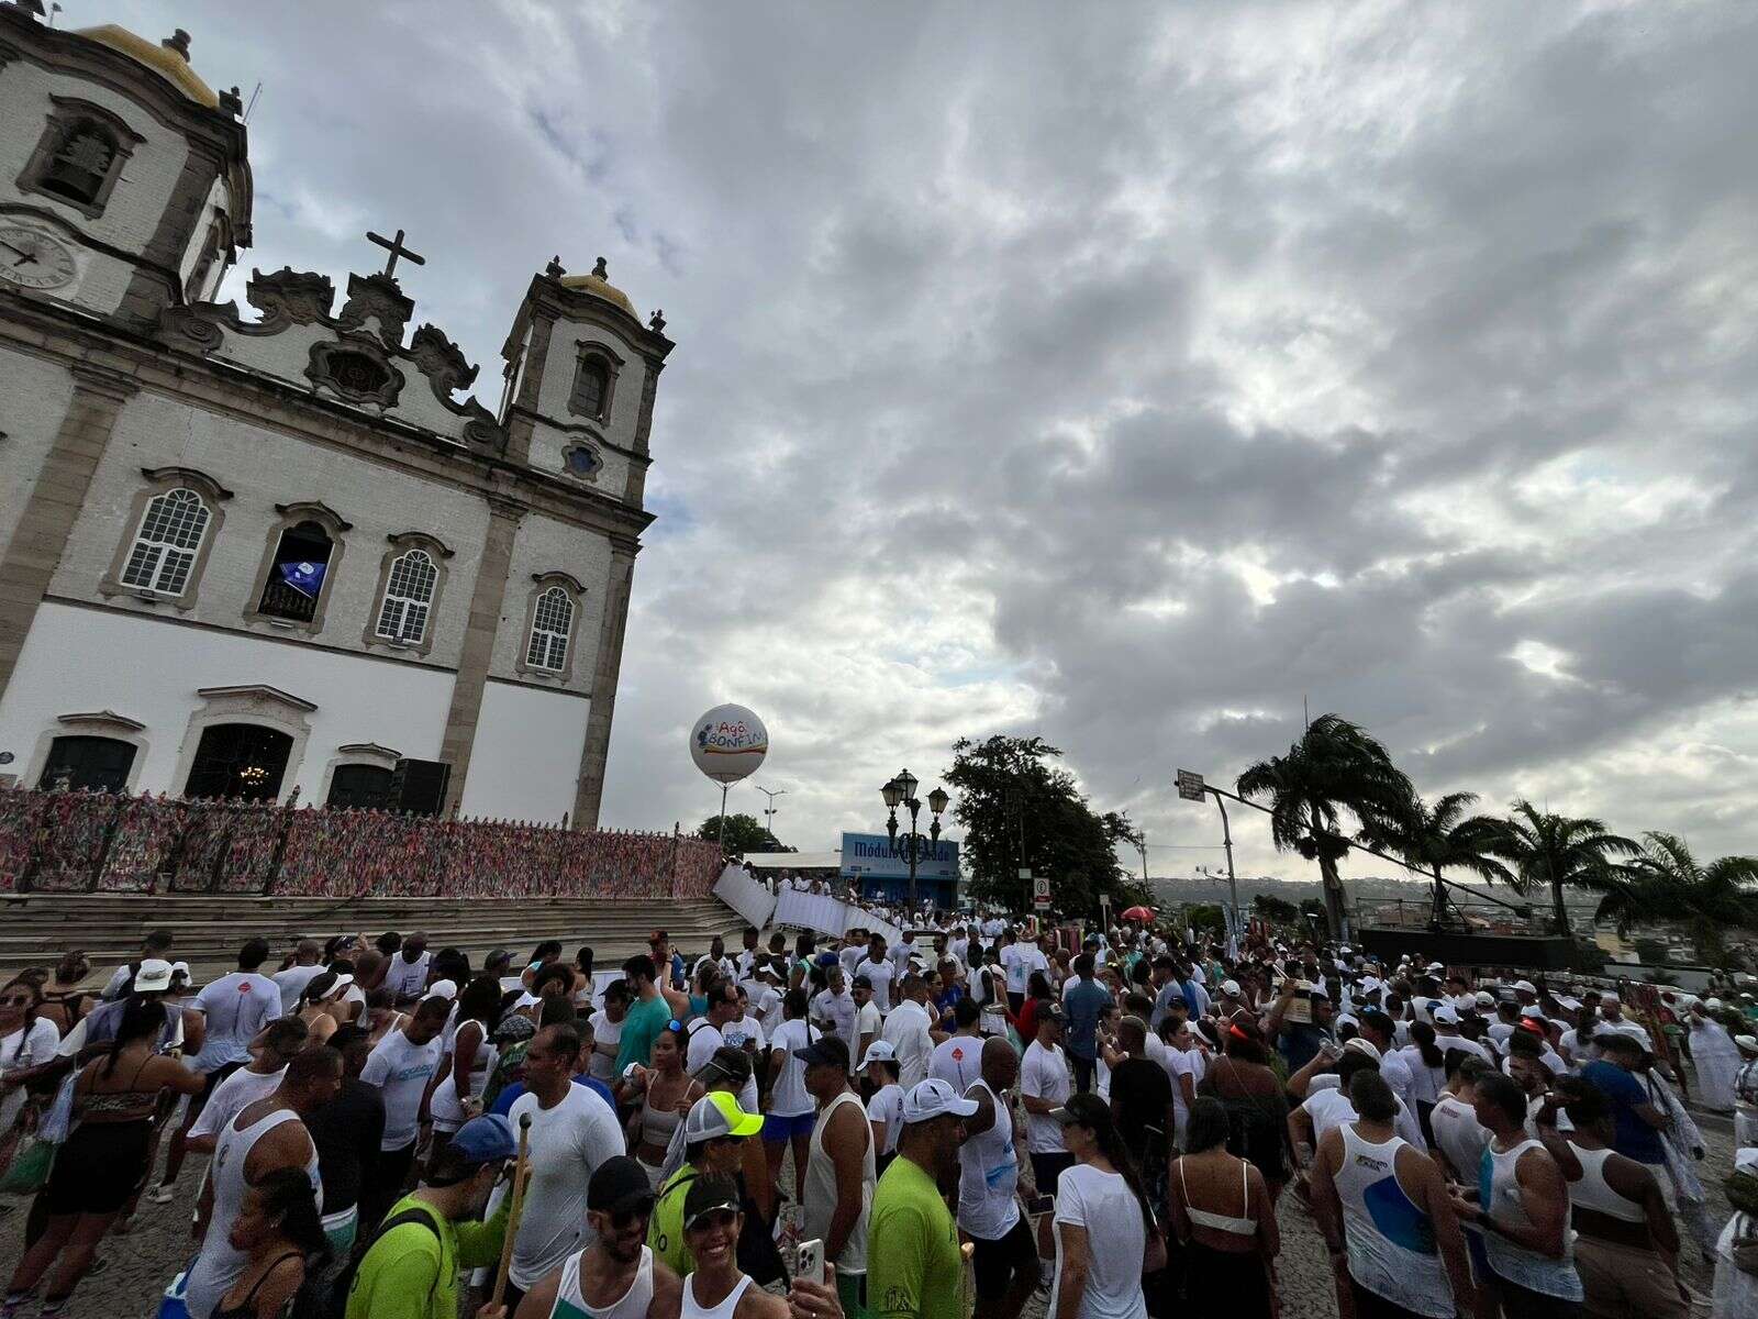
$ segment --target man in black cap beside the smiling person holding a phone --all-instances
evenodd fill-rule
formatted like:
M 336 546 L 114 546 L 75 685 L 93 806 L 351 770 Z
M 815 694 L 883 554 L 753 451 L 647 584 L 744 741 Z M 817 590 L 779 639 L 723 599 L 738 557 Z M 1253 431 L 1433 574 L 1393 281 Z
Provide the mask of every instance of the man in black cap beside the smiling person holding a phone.
M 647 1233 L 654 1194 L 642 1166 L 619 1154 L 585 1187 L 594 1240 L 526 1293 L 515 1319 L 666 1319 L 677 1315 L 679 1275 L 654 1257 Z M 682 1196 L 679 1198 L 682 1235 Z

